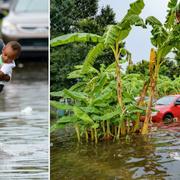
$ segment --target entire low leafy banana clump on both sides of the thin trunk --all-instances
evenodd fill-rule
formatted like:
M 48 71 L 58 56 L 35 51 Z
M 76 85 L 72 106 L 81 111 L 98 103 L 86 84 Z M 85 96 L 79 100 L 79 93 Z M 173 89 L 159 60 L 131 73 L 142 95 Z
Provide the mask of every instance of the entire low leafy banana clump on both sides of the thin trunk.
M 126 120 L 127 133 L 130 133 L 136 114 L 142 113 L 134 97 L 139 94 L 139 85 L 143 81 L 138 74 L 123 76 L 125 108 L 122 110 L 116 98 L 114 68 L 115 63 L 106 68 L 101 65 L 100 70 L 91 67 L 87 74 L 82 74 L 82 66 L 76 66 L 76 70 L 68 77 L 81 78 L 81 81 L 68 90 L 51 93 L 53 97 L 70 98 L 73 102 L 67 105 L 51 101 L 52 107 L 70 112 L 61 117 L 51 129 L 73 124 L 78 141 L 85 136 L 87 142 L 91 139 L 97 143 L 99 139 L 119 139 L 123 135 L 122 124 Z M 129 88 L 131 83 L 133 85 Z

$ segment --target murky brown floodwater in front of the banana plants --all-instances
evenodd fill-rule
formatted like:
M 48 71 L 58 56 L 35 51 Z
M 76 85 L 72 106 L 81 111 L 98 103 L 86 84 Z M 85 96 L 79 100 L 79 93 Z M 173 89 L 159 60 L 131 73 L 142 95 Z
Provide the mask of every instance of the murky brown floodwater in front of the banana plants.
M 180 179 L 180 123 L 97 145 L 53 135 L 51 145 L 51 180 Z

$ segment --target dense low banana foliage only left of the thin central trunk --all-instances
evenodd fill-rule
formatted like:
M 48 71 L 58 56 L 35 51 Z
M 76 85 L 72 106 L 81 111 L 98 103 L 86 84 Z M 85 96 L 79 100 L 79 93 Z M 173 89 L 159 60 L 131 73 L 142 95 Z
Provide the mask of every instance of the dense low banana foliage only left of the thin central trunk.
M 109 121 L 114 116 L 117 116 L 119 109 L 115 106 L 110 106 L 112 101 L 115 101 L 115 89 L 114 87 L 114 74 L 112 70 L 114 65 L 110 65 L 108 68 L 104 68 L 102 65 L 100 71 L 91 67 L 91 70 L 82 75 L 82 66 L 77 66 L 76 70 L 69 74 L 69 78 L 81 78 L 81 82 L 78 82 L 72 86 L 69 90 L 65 89 L 62 92 L 51 93 L 54 97 L 70 98 L 74 102 L 73 105 L 60 104 L 57 101 L 51 101 L 51 106 L 56 109 L 69 110 L 72 113 L 62 117 L 52 127 L 60 127 L 61 124 L 73 124 L 77 134 L 78 141 L 81 140 L 83 134 L 85 134 L 86 141 L 88 137 L 91 137 L 92 141 L 98 142 L 98 130 L 102 128 L 103 137 L 110 136 L 110 124 Z M 112 82 L 109 82 L 113 80 Z M 82 88 L 83 87 L 83 88 Z M 108 131 L 105 130 L 104 122 L 107 121 Z M 90 135 L 89 135 L 89 132 Z M 101 133 L 101 132 L 100 132 Z

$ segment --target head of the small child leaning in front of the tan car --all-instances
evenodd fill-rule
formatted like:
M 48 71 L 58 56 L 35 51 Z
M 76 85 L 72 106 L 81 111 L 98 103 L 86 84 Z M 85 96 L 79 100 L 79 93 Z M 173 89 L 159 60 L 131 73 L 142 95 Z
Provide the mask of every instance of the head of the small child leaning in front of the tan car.
M 12 63 L 21 53 L 21 45 L 17 41 L 10 41 L 2 50 L 2 60 L 4 63 Z

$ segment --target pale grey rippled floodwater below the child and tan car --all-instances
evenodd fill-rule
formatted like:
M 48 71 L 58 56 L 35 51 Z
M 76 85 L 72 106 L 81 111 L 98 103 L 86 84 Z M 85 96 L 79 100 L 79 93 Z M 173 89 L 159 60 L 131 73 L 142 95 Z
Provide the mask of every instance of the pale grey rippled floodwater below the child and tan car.
M 0 179 L 48 179 L 46 63 L 19 64 L 0 94 Z

